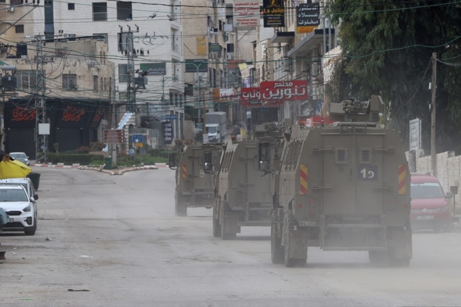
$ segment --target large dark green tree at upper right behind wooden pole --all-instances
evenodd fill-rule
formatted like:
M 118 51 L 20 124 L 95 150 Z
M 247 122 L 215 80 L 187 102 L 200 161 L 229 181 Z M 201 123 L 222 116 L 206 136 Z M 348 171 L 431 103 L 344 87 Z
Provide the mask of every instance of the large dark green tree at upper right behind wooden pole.
M 430 149 L 428 90 L 437 53 L 437 151 L 461 141 L 461 5 L 458 1 L 335 0 L 328 7 L 339 24 L 342 58 L 326 94 L 388 102 L 391 122 L 407 140 L 408 121 L 423 120 L 423 147 Z

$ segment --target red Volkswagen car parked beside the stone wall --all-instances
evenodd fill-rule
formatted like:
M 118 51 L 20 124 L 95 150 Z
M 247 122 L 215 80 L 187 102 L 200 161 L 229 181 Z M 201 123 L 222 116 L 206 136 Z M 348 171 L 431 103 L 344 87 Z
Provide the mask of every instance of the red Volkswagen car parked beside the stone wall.
M 453 219 L 445 193 L 438 179 L 431 174 L 411 174 L 411 228 L 452 231 Z

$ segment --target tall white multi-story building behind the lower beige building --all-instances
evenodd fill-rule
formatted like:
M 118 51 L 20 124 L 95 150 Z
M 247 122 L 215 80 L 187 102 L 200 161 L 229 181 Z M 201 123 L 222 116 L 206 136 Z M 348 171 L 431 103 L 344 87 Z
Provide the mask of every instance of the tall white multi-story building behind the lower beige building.
M 155 4 L 130 1 L 54 2 L 41 5 L 5 0 L 2 14 L 11 25 L 2 33 L 3 49 L 27 42 L 25 36 L 43 34 L 46 39 L 98 37 L 107 43 L 99 67 L 112 67 L 111 102 L 115 105 L 112 127 L 127 113 L 134 127 L 152 128 L 151 140 L 174 144 L 183 137 L 184 78 L 180 2 Z M 17 5 L 16 5 L 17 3 Z M 8 10 L 6 10 L 8 8 Z M 26 15 L 26 17 L 23 17 Z M 3 29 L 7 23 L 2 25 Z M 2 31 L 3 32 L 3 31 Z M 80 92 L 80 88 L 77 89 Z

